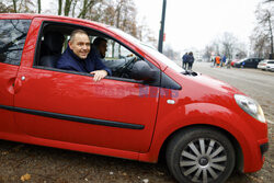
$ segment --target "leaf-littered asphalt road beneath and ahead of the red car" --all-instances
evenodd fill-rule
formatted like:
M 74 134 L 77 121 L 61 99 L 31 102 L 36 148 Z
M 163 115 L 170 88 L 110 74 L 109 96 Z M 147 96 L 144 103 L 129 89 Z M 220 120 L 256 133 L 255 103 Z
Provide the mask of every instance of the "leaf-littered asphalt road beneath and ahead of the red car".
M 193 70 L 240 89 L 262 105 L 270 119 L 271 147 L 263 169 L 256 173 L 233 173 L 228 183 L 273 183 L 274 125 L 271 122 L 274 122 L 274 72 L 210 68 L 209 64 L 203 62 L 195 62 Z M 0 183 L 2 182 L 175 183 L 175 180 L 163 162 L 150 164 L 0 140 Z

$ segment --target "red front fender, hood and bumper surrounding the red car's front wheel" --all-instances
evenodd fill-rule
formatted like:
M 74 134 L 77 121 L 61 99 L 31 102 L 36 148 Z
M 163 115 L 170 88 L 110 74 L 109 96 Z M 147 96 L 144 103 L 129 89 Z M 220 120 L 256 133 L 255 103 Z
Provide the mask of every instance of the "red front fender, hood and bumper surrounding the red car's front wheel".
M 171 76 L 172 72 L 168 70 L 167 72 Z M 162 96 L 160 99 L 151 153 L 159 151 L 164 140 L 175 131 L 174 129 L 180 130 L 182 126 L 208 125 L 227 130 L 238 140 L 244 157 L 244 172 L 254 172 L 261 169 L 263 160 L 256 139 L 267 139 L 267 136 L 265 136 L 267 134 L 267 125 L 258 123 L 256 119 L 241 112 L 242 110 L 238 105 L 235 105 L 233 93 L 243 93 L 224 82 L 205 76 L 195 78 L 174 76 L 174 78 L 181 78 L 182 92 L 174 98 L 174 105 L 167 104 L 165 100 L 169 98 L 164 99 Z M 196 90 L 197 88 L 198 90 Z M 238 114 L 236 115 L 236 113 Z M 254 126 L 251 126 L 251 123 Z M 254 147 L 256 148 L 254 149 Z M 251 150 L 254 153 L 250 153 Z M 140 156 L 140 159 L 146 159 L 147 157 L 150 156 L 144 155 Z M 258 163 L 254 163 L 254 159 Z M 153 160 L 157 160 L 157 158 Z

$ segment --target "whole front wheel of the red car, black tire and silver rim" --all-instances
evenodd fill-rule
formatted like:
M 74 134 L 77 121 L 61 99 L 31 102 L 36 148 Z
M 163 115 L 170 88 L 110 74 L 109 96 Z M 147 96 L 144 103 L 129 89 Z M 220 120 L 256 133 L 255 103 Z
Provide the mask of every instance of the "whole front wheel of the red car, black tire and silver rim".
M 167 164 L 182 183 L 225 182 L 235 168 L 230 140 L 212 128 L 191 128 L 178 133 L 168 144 Z

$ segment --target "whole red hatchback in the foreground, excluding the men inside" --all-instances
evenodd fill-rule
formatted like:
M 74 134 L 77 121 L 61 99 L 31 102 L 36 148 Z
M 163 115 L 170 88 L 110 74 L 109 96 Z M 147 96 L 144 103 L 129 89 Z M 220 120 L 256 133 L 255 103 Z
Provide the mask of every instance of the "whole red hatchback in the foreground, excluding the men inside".
M 56 68 L 77 28 L 107 39 L 112 76 L 94 82 Z M 1 139 L 153 163 L 164 155 L 179 182 L 225 182 L 233 169 L 262 168 L 266 121 L 237 89 L 95 22 L 1 14 L 0 35 Z

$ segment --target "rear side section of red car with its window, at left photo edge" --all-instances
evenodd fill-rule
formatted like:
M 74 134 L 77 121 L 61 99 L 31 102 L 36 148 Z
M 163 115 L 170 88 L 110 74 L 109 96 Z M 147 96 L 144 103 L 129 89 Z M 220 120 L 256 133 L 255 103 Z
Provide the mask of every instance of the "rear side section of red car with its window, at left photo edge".
M 30 20 L 0 20 L 0 134 L 15 133 L 14 82 Z

